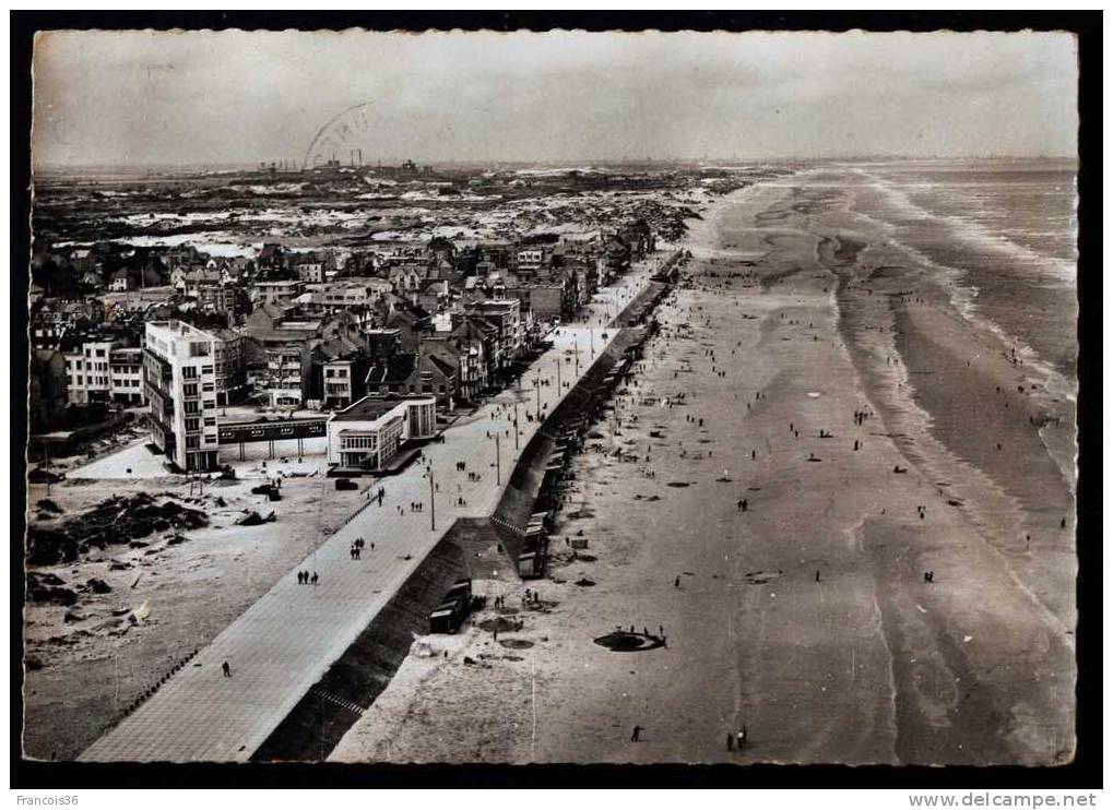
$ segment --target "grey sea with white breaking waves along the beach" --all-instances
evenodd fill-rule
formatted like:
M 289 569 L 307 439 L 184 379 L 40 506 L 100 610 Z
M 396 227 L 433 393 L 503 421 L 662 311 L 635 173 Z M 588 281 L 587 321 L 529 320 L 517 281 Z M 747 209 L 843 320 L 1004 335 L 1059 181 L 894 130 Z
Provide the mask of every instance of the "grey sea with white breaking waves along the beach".
M 1071 160 L 851 165 L 879 194 L 855 211 L 946 268 L 1026 362 L 1076 387 L 1077 165 Z

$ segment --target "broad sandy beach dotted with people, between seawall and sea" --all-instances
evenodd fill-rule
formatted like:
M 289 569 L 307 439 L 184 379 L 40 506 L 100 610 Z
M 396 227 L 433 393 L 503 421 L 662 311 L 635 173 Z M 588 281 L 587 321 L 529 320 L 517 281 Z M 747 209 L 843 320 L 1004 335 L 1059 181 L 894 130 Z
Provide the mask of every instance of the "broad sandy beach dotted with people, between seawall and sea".
M 1070 405 L 847 200 L 801 181 L 709 213 L 573 465 L 550 579 L 475 585 L 522 626 L 423 639 L 333 759 L 1070 758 L 1073 481 L 1028 418 Z M 667 645 L 594 643 L 619 626 Z

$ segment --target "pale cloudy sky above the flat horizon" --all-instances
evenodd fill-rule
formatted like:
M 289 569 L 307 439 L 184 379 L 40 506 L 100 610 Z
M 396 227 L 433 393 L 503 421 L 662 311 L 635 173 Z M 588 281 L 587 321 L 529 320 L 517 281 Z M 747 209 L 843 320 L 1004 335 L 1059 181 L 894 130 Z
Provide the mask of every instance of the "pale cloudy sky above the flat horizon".
M 1076 154 L 1067 33 L 55 31 L 33 71 L 46 167 Z

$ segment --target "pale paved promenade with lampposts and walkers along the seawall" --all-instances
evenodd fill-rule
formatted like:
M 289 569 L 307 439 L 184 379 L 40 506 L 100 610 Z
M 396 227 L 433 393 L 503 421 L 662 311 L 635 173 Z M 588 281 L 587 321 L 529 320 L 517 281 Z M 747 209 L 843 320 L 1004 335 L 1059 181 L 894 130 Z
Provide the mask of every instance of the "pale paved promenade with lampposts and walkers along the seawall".
M 656 258 L 642 263 L 601 290 L 579 323 L 549 336 L 552 348 L 530 366 L 520 388 L 503 391 L 446 431 L 443 444 L 427 445 L 422 460 L 384 480 L 382 506 L 372 503 L 353 517 L 79 759 L 247 761 L 421 565 L 453 521 L 492 514 L 521 450 L 540 425 L 526 419 L 526 413 L 536 412 L 538 392 L 551 412 L 614 338 L 615 330 L 605 324 L 644 287 L 656 263 Z M 549 384 L 535 387 L 538 378 Z M 512 425 L 515 403 L 518 447 Z M 501 436 L 498 482 L 495 442 L 489 437 L 495 432 Z M 456 471 L 459 461 L 466 462 L 466 471 Z M 469 481 L 469 472 L 480 478 Z M 323 481 L 323 498 L 332 483 Z M 457 505 L 460 497 L 464 506 Z M 412 511 L 412 503 L 423 504 L 422 511 Z M 280 524 L 275 531 L 282 532 Z M 352 560 L 349 549 L 357 537 L 366 544 L 362 559 Z M 299 585 L 297 571 L 317 572 L 319 583 Z M 223 672 L 225 662 L 230 676 Z

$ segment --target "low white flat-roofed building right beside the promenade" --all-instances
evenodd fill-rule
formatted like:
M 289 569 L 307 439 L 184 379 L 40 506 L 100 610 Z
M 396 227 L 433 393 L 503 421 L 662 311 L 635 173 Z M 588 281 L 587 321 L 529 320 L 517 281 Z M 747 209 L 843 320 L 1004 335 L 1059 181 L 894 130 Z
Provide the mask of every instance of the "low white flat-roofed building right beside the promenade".
M 436 397 L 364 397 L 328 421 L 328 464 L 384 470 L 403 444 L 436 435 Z

